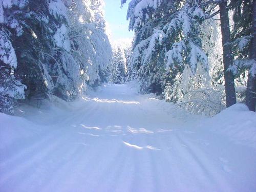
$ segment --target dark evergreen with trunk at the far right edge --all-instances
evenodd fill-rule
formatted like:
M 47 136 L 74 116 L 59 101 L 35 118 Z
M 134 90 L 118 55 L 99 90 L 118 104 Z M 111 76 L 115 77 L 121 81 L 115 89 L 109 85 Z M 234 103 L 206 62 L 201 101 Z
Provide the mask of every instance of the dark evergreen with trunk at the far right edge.
M 233 10 L 232 51 L 236 56 L 235 66 L 230 68 L 235 75 L 248 70 L 246 104 L 255 111 L 256 103 L 256 2 L 253 0 L 231 1 Z

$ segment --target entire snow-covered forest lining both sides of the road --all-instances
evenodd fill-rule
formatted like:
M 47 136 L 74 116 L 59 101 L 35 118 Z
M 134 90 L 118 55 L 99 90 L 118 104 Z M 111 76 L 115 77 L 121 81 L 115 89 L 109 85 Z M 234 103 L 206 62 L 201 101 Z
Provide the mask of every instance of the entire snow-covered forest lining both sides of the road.
M 236 102 L 255 111 L 254 5 L 131 1 L 135 36 L 124 48 L 105 34 L 101 1 L 2 0 L 0 111 L 52 95 L 72 101 L 88 87 L 131 80 L 140 93 L 191 113 L 212 116 Z

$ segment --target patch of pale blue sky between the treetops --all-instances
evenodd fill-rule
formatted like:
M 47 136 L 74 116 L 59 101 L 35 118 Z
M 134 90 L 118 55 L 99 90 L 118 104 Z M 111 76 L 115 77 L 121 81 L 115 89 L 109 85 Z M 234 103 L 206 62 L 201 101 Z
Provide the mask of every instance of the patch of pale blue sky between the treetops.
M 121 0 L 104 0 L 105 20 L 111 32 L 111 40 L 127 39 L 133 37 L 128 30 L 129 21 L 126 20 L 128 3 L 120 9 Z

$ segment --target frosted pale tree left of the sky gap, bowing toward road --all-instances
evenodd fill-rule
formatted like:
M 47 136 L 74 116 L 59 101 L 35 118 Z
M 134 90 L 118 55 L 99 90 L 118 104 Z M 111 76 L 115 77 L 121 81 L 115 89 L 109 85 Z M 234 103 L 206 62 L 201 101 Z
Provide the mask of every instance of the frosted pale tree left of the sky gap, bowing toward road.
M 71 53 L 81 68 L 82 79 L 90 86 L 98 86 L 107 80 L 107 68 L 112 59 L 102 4 L 101 0 L 76 0 L 69 10 Z

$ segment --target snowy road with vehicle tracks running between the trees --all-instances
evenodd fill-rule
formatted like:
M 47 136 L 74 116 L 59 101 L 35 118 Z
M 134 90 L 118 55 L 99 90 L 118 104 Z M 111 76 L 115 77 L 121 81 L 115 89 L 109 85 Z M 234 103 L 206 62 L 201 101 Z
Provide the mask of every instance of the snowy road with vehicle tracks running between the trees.
M 45 112 L 56 123 L 1 151 L 0 191 L 237 190 L 214 139 L 196 130 L 201 117 L 125 85 L 106 85 L 75 105 L 61 116 Z

